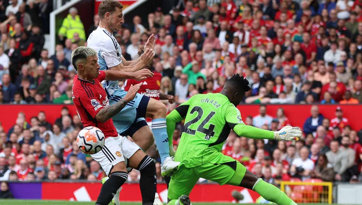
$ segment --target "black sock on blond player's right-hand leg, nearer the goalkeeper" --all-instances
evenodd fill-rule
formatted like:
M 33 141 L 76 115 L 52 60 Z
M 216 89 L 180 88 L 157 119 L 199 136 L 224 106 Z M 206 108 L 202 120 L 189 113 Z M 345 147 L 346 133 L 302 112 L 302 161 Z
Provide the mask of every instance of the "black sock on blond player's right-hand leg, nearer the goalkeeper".
M 142 205 L 153 205 L 156 193 L 156 164 L 147 155 L 139 163 L 140 171 L 139 188 L 141 189 Z

